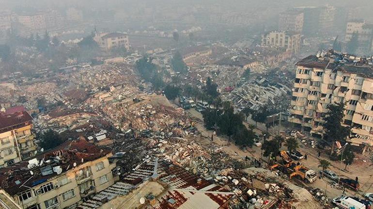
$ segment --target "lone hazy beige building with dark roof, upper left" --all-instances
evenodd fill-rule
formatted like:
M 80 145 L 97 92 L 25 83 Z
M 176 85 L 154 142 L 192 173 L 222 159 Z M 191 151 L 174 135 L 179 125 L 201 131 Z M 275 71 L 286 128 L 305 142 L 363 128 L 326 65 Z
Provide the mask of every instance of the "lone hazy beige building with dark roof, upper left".
M 96 33 L 93 40 L 100 48 L 110 50 L 115 47 L 124 47 L 129 50 L 128 35 L 122 32 Z

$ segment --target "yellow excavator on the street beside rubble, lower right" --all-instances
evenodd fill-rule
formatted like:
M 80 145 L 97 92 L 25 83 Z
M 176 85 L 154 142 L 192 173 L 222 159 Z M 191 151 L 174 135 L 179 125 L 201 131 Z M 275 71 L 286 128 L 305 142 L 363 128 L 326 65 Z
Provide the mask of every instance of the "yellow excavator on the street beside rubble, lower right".
M 300 177 L 305 182 L 310 183 L 317 179 L 316 171 L 307 168 L 302 164 L 296 164 L 294 161 L 292 161 L 286 151 L 280 151 L 280 155 L 282 157 L 282 161 L 273 164 L 270 168 L 271 170 L 276 168 L 282 173 L 288 175 L 290 178 Z

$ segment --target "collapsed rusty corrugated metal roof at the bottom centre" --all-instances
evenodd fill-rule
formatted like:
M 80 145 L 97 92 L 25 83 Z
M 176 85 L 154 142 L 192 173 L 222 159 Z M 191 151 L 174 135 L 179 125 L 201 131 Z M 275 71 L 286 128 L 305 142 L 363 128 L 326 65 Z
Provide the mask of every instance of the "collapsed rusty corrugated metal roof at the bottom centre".
M 130 208 L 133 202 L 128 200 L 127 195 L 147 193 L 149 188 L 146 185 L 153 181 L 167 186 L 162 188 L 161 193 L 154 193 L 154 203 L 144 205 L 148 209 L 218 209 L 233 196 L 233 193 L 227 189 L 198 177 L 171 162 L 158 160 L 157 158 L 149 159 L 138 169 L 124 177 L 122 181 L 124 182 L 113 185 L 115 188 L 109 187 L 94 196 L 88 204 L 83 203 L 78 208 L 99 208 L 102 205 L 99 201 L 100 198 L 110 200 L 114 197 L 112 201 L 105 205 L 112 208 Z M 133 185 L 132 190 L 130 185 Z M 118 195 L 118 191 L 122 193 Z M 156 196 L 157 193 L 159 193 L 158 196 Z M 139 202 L 140 196 L 136 195 L 136 197 L 139 199 L 135 201 Z M 130 205 L 126 205 L 126 203 Z

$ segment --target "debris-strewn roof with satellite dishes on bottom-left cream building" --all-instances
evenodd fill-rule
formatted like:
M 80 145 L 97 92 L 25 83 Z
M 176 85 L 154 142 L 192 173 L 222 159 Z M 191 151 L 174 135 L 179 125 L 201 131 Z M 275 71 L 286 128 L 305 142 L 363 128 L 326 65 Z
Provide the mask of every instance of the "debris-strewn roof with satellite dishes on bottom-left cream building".
M 110 150 L 99 149 L 84 139 L 68 141 L 31 161 L 21 161 L 0 168 L 0 187 L 10 195 L 15 195 L 59 175 L 59 168 L 64 173 L 109 153 Z

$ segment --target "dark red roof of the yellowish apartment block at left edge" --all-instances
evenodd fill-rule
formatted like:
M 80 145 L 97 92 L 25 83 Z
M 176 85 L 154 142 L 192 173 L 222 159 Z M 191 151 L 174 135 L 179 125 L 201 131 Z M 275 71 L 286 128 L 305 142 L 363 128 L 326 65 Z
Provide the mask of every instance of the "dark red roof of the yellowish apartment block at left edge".
M 23 106 L 13 107 L 0 112 L 0 133 L 31 124 L 32 117 Z

